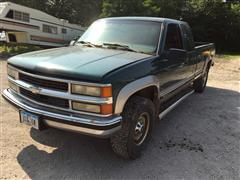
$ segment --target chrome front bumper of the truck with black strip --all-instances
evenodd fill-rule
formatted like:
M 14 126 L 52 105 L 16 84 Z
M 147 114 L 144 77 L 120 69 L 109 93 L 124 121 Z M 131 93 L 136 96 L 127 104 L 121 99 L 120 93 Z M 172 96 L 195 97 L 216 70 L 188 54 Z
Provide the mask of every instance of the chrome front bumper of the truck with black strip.
M 74 131 L 99 138 L 108 138 L 121 129 L 121 116 L 95 117 L 50 109 L 23 99 L 10 89 L 5 89 L 2 92 L 2 96 L 17 109 L 39 115 L 44 126 Z

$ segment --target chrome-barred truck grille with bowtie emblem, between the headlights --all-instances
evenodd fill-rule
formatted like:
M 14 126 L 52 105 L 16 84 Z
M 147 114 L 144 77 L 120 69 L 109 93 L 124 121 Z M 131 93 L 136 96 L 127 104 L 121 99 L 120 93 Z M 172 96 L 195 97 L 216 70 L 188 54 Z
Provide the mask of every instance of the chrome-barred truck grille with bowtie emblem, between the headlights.
M 8 76 L 8 80 L 15 88 L 11 88 L 21 98 L 31 101 L 34 104 L 63 110 L 66 112 L 79 113 L 83 115 L 93 115 L 98 117 L 108 117 L 98 113 L 77 111 L 72 108 L 72 101 L 86 104 L 112 104 L 112 97 L 91 97 L 86 95 L 72 94 L 71 83 L 85 86 L 103 86 L 102 84 L 70 81 L 54 77 L 31 74 L 14 67 L 18 72 L 17 78 Z M 12 87 L 13 87 L 12 86 Z M 105 85 L 104 85 L 105 86 Z

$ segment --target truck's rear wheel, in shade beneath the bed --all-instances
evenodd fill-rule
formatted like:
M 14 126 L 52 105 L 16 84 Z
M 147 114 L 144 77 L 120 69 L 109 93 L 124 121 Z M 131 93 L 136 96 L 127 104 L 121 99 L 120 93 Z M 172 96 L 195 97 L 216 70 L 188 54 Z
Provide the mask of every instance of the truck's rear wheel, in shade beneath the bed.
M 208 66 L 206 68 L 204 74 L 200 78 L 198 78 L 194 81 L 193 88 L 194 88 L 195 92 L 203 93 L 203 91 L 205 90 L 206 85 L 207 85 L 207 80 L 208 80 L 209 69 L 210 69 L 210 67 Z

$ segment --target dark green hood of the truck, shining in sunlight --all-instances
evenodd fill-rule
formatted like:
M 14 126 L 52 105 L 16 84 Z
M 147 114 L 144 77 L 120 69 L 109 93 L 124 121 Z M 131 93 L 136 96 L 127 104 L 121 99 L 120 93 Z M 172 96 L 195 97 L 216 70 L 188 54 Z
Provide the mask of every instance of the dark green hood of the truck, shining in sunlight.
M 150 56 L 129 51 L 72 46 L 18 55 L 10 58 L 8 63 L 34 74 L 100 82 L 109 72 Z

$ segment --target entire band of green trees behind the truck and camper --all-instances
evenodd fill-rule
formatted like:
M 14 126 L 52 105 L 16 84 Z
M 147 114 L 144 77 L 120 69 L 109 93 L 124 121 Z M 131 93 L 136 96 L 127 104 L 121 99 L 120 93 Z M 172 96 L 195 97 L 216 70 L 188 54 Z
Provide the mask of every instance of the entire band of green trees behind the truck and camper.
M 1 0 L 0 0 L 1 1 Z M 10 0 L 88 26 L 100 17 L 154 16 L 187 21 L 196 41 L 240 52 L 240 3 L 231 0 Z

